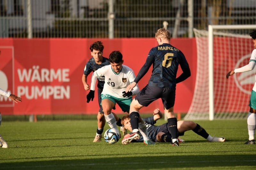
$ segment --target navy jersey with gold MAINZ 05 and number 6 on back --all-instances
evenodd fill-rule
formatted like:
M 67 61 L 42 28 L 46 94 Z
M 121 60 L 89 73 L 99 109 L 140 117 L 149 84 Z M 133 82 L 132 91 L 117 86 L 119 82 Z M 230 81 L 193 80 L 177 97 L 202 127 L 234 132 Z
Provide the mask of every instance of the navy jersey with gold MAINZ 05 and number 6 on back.
M 142 66 L 134 80 L 135 83 L 140 81 L 152 64 L 153 70 L 148 85 L 160 88 L 175 89 L 179 64 L 181 68 L 189 68 L 184 54 L 171 44 L 164 43 L 149 51 L 146 63 Z

